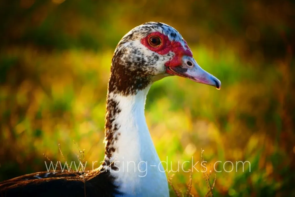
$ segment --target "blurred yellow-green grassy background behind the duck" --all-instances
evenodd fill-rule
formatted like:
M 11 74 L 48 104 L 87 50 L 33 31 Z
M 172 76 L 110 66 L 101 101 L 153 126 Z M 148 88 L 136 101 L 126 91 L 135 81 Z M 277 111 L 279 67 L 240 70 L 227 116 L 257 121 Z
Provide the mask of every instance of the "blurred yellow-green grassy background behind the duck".
M 199 160 L 202 148 L 208 164 L 250 161 L 251 172 L 218 165 L 214 196 L 295 196 L 294 17 L 287 0 L 0 1 L 0 181 L 46 170 L 43 153 L 63 161 L 59 143 L 77 158 L 73 140 L 101 161 L 112 53 L 130 29 L 160 21 L 222 82 L 152 86 L 146 119 L 160 159 Z M 192 193 L 206 192 L 194 172 Z

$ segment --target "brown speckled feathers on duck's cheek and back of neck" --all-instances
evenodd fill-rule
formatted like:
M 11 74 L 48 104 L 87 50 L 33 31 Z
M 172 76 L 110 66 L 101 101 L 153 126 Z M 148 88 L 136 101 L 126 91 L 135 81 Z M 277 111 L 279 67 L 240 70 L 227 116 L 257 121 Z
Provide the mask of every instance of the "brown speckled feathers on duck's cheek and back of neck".
M 131 34 L 132 36 L 133 34 Z M 130 36 L 127 36 L 130 38 Z M 119 102 L 110 95 L 132 96 L 152 83 L 153 67 L 150 65 L 158 61 L 159 56 L 154 54 L 146 58 L 144 54 L 132 44 L 124 46 L 127 42 L 124 38 L 119 43 L 112 58 L 111 73 L 108 84 L 108 95 L 106 98 L 106 118 L 105 118 L 105 161 L 103 165 L 112 165 L 109 159 L 116 151 L 114 142 L 120 136 L 117 133 L 120 125 L 114 123 L 116 116 L 121 112 Z M 131 38 L 130 38 L 131 39 Z

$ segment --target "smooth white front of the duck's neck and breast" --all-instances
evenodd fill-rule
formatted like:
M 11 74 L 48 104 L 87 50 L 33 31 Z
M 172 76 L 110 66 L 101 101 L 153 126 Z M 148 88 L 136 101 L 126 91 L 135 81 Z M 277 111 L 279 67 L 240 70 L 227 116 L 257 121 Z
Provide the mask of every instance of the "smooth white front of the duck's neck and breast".
M 109 93 L 118 102 L 113 124 L 118 129 L 110 162 L 118 167 L 110 170 L 115 184 L 124 196 L 169 196 L 167 178 L 155 150 L 145 121 L 144 106 L 150 86 L 136 95 L 122 96 Z

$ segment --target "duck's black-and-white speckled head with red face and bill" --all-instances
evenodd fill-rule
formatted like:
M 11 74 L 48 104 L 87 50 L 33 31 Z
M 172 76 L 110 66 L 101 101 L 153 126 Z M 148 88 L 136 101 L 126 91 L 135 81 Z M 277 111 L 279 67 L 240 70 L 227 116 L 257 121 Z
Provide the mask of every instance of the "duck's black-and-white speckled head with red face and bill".
M 136 94 L 166 76 L 181 76 L 220 89 L 221 82 L 204 71 L 180 33 L 160 22 L 128 32 L 112 58 L 109 92 Z

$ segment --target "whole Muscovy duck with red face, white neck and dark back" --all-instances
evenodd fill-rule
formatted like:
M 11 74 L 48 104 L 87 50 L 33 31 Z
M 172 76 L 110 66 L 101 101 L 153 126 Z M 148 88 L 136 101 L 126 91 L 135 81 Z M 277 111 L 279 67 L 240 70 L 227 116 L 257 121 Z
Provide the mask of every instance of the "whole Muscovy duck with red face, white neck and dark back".
M 171 26 L 148 22 L 119 42 L 112 57 L 106 98 L 105 156 L 88 173 L 38 172 L 0 183 L 12 196 L 169 196 L 168 182 L 145 121 L 153 82 L 177 75 L 220 88 L 196 63 L 186 41 Z

